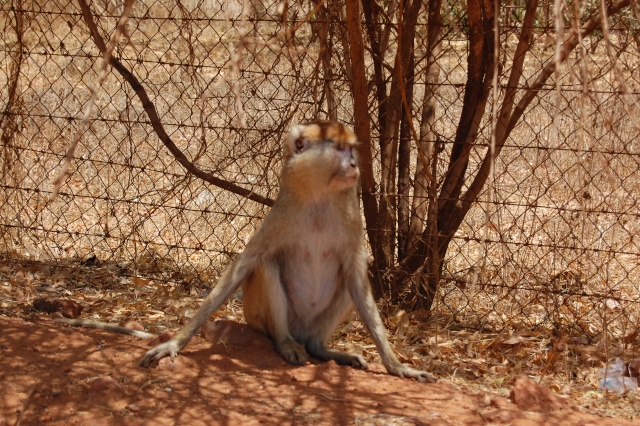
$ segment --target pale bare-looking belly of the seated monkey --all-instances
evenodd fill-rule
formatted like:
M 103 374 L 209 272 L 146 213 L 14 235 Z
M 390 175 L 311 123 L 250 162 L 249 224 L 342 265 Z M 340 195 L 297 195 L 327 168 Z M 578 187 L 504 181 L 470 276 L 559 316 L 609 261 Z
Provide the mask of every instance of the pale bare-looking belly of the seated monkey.
M 291 306 L 299 315 L 321 314 L 341 291 L 340 262 L 332 244 L 300 244 L 283 270 Z

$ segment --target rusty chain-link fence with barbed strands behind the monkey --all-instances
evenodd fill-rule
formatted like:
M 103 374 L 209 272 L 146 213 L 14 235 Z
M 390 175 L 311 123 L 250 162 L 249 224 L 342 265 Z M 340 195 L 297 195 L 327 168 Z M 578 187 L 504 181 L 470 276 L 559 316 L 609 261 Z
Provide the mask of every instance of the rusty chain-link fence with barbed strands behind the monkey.
M 119 65 L 98 89 L 90 126 L 51 201 L 98 79 L 100 39 L 109 41 L 122 12 L 117 2 L 91 2 L 92 33 L 79 4 L 16 0 L 0 12 L 0 251 L 9 259 L 77 268 L 99 259 L 152 279 L 212 282 L 268 211 L 256 196 L 277 193 L 280 145 L 291 124 L 353 124 L 344 5 L 136 1 L 115 47 Z M 469 53 L 464 16 L 455 2 L 446 10 L 433 90 L 445 152 L 460 119 Z M 498 69 L 513 61 L 521 19 L 521 8 L 505 10 Z M 536 23 L 525 79 L 554 55 L 548 19 Z M 490 329 L 637 333 L 640 43 L 637 18 L 630 12 L 627 19 L 635 27 L 612 25 L 582 40 L 538 90 L 450 244 L 434 311 Z M 415 105 L 431 84 L 421 20 Z M 389 37 L 393 46 L 393 31 Z M 366 61 L 373 73 L 375 61 Z M 507 83 L 498 73 L 498 86 Z M 486 151 L 490 140 L 487 120 L 478 146 Z M 374 150 L 374 169 L 378 156 Z M 218 181 L 186 171 L 185 161 Z

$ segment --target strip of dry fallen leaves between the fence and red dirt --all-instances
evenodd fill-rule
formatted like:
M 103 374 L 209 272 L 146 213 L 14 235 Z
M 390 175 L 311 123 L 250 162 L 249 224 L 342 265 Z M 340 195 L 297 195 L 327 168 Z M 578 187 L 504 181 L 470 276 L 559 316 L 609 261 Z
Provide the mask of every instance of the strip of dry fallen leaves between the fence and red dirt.
M 0 313 L 30 316 L 34 311 L 59 311 L 64 316 L 71 315 L 69 318 L 81 316 L 110 323 L 135 321 L 140 323 L 137 328 L 156 334 L 176 331 L 193 315 L 208 288 L 196 274 L 173 271 L 156 279 L 157 274 L 152 272 L 162 271 L 154 268 L 166 265 L 152 256 L 147 260 L 143 268 L 136 270 L 97 261 L 70 267 L 0 262 Z M 207 280 L 214 282 L 215 277 Z M 577 308 L 583 309 L 576 305 Z M 532 305 L 531 309 L 533 312 L 536 307 Z M 610 303 L 606 309 L 614 312 L 616 306 Z M 536 312 L 545 314 L 542 307 Z M 232 299 L 215 316 L 241 322 L 242 304 Z M 488 315 L 487 320 L 490 318 Z M 518 388 L 522 380 L 519 377 L 527 376 L 593 413 L 638 416 L 640 404 L 636 395 L 596 391 L 597 372 L 607 356 L 633 360 L 629 363 L 630 374 L 640 374 L 637 354 L 629 349 L 637 342 L 637 331 L 630 330 L 627 341 L 615 343 L 552 335 L 518 328 L 515 323 L 501 333 L 473 330 L 437 312 L 398 311 L 387 315 L 385 321 L 399 359 L 440 378 L 506 396 L 512 388 Z M 336 331 L 332 345 L 359 353 L 369 362 L 379 360 L 375 344 L 355 314 Z M 520 390 L 514 392 L 522 394 Z

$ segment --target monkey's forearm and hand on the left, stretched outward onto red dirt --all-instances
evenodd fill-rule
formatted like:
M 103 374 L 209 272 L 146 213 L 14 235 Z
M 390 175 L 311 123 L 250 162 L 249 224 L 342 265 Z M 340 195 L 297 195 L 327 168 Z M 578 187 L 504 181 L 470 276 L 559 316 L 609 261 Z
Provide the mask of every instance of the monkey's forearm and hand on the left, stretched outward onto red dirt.
M 248 268 L 244 262 L 244 253 L 240 254 L 236 261 L 227 267 L 218 284 L 202 302 L 195 315 L 185 324 L 180 331 L 169 341 L 149 350 L 140 360 L 142 367 L 148 368 L 158 365 L 165 356 L 174 359 L 178 352 L 186 346 L 194 334 L 198 332 L 211 314 L 220 307 L 240 287 L 240 284 L 252 273 L 253 268 Z

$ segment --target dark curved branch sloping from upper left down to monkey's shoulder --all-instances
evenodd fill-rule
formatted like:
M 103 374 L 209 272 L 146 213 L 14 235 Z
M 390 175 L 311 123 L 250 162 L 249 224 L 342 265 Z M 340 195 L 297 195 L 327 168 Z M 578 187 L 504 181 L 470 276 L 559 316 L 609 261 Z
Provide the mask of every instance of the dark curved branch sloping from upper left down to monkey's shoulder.
M 106 46 L 102 36 L 98 32 L 98 28 L 93 20 L 93 15 L 91 14 L 91 9 L 85 2 L 85 0 L 78 0 L 80 8 L 82 9 L 82 15 L 85 23 L 89 27 L 89 31 L 91 33 L 91 38 L 93 39 L 96 46 L 100 52 L 106 52 Z M 151 127 L 155 131 L 158 138 L 162 141 L 162 143 L 169 149 L 171 154 L 175 157 L 175 159 L 184 167 L 189 173 L 192 173 L 194 176 L 209 182 L 212 185 L 217 186 L 218 188 L 224 189 L 225 191 L 232 192 L 234 194 L 238 194 L 245 198 L 248 198 L 252 201 L 255 201 L 260 204 L 264 204 L 267 206 L 272 206 L 274 200 L 263 197 L 262 195 L 255 194 L 253 191 L 238 186 L 234 183 L 221 179 L 219 177 L 213 176 L 211 173 L 205 172 L 204 170 L 198 168 L 195 164 L 189 161 L 186 155 L 176 146 L 171 137 L 164 130 L 164 126 L 160 121 L 160 117 L 158 116 L 158 111 L 155 106 L 149 99 L 147 95 L 147 91 L 142 86 L 140 81 L 136 78 L 135 75 L 131 71 L 129 71 L 117 58 L 109 56 L 108 64 L 110 64 L 120 75 L 129 83 L 131 88 L 136 93 L 136 96 L 142 103 L 142 107 L 144 108 L 147 116 L 149 117 L 149 121 L 151 122 Z M 66 173 L 66 172 L 65 172 Z

